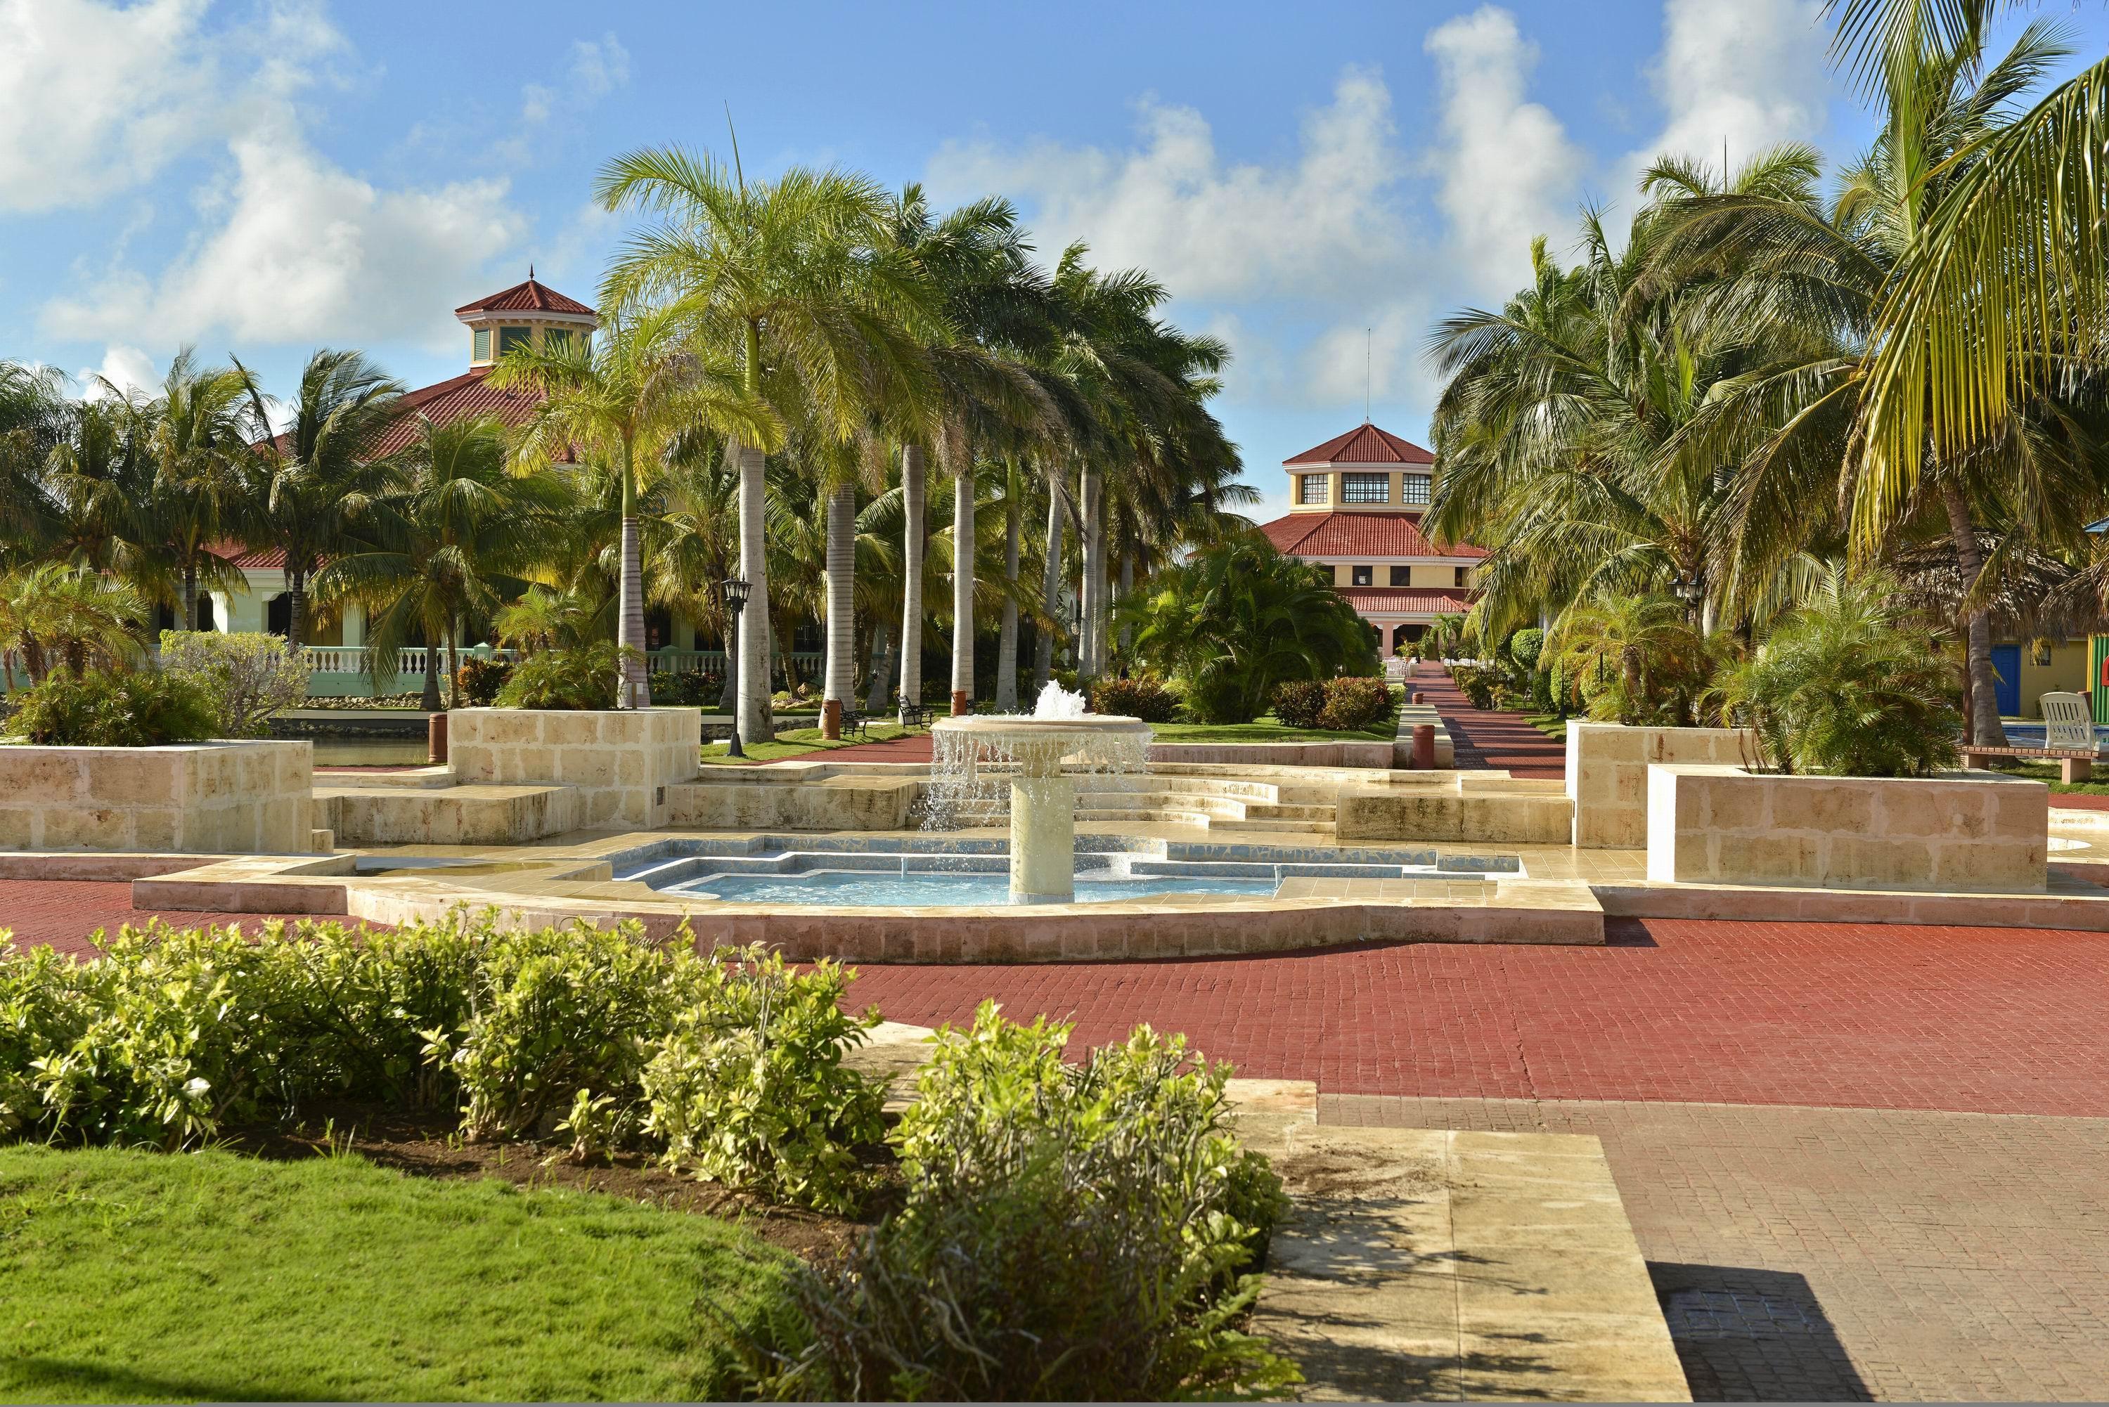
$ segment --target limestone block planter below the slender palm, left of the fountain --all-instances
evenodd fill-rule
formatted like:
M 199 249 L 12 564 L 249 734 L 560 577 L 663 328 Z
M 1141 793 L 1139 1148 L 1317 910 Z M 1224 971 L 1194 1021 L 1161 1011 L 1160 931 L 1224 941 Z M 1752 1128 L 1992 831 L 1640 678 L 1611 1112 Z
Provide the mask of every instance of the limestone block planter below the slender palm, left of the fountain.
M 702 709 L 453 709 L 447 764 L 462 785 L 576 789 L 572 825 L 654 829 L 666 789 L 702 772 Z

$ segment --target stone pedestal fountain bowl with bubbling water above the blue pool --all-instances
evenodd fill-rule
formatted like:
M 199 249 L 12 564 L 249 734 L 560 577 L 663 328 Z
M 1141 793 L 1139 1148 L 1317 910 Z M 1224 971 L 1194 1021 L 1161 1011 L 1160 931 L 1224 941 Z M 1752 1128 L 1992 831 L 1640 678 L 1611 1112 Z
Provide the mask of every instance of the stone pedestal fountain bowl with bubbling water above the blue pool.
M 1147 768 L 1149 724 L 1086 713 L 1082 694 L 1050 681 L 1031 715 L 939 719 L 930 728 L 930 747 L 936 825 L 947 825 L 962 799 L 989 795 L 993 785 L 1008 780 L 1010 903 L 1069 903 L 1076 899 L 1076 780 L 1065 768 Z

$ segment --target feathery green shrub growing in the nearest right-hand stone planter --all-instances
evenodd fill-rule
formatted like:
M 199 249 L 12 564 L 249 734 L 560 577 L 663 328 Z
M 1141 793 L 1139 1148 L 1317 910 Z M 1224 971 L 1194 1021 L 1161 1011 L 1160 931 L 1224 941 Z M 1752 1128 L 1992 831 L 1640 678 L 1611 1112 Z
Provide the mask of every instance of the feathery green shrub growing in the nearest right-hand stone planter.
M 1723 688 L 1759 764 L 1835 776 L 1923 776 L 1955 764 L 1955 667 L 1923 629 L 1898 624 L 1896 582 L 1833 567 Z

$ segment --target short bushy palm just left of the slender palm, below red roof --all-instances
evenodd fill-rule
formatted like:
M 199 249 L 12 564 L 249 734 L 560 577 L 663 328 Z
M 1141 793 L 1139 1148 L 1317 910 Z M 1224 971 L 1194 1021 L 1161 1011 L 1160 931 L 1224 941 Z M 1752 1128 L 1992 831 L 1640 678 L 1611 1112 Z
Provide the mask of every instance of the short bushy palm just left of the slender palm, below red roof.
M 572 494 L 548 468 L 508 473 L 506 460 L 506 432 L 494 418 L 437 426 L 420 416 L 396 460 L 401 487 L 365 506 L 363 542 L 318 574 L 325 601 L 367 608 L 375 694 L 392 681 L 396 652 L 424 641 L 424 707 L 439 711 L 439 648 L 453 679 L 464 627 L 527 591 L 546 525 Z

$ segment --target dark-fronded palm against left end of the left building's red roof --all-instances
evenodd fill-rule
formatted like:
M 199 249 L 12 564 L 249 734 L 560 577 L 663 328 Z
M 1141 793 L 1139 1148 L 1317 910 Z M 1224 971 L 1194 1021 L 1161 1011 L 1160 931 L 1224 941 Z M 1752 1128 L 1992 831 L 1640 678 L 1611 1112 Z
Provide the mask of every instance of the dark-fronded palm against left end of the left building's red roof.
M 291 595 L 287 650 L 299 652 L 308 629 L 308 580 L 352 544 L 348 525 L 394 485 L 394 468 L 375 456 L 382 435 L 401 413 L 403 386 L 365 352 L 323 348 L 299 373 L 291 422 L 270 432 L 270 409 L 257 380 L 243 367 L 251 432 L 249 510 L 243 536 L 251 546 L 285 555 Z

